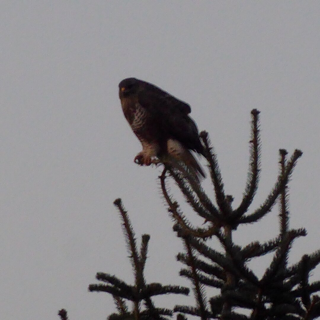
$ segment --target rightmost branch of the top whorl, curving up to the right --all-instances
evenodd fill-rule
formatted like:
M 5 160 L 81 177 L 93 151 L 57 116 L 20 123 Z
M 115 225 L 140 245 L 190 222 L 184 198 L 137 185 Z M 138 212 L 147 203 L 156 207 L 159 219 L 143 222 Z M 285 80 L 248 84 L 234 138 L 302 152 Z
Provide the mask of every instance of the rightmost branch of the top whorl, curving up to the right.
M 255 210 L 252 214 L 241 217 L 239 219 L 239 223 L 252 223 L 254 221 L 258 221 L 268 212 L 270 212 L 272 206 L 276 202 L 277 197 L 279 196 L 283 188 L 287 185 L 288 180 L 292 174 L 292 170 L 300 156 L 302 156 L 302 152 L 300 150 L 295 150 L 290 160 L 286 164 L 284 175 L 279 175 L 274 188 L 268 195 L 265 202 L 260 206 L 260 208 Z

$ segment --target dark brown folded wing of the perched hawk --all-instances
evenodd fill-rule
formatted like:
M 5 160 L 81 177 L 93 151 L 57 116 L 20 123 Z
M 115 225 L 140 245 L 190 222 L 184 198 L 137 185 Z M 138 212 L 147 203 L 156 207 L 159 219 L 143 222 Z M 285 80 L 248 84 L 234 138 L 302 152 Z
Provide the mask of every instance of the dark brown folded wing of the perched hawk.
M 188 116 L 191 108 L 187 103 L 148 83 L 139 94 L 139 102 L 159 123 L 164 135 L 180 141 L 188 149 L 203 153 L 197 126 Z

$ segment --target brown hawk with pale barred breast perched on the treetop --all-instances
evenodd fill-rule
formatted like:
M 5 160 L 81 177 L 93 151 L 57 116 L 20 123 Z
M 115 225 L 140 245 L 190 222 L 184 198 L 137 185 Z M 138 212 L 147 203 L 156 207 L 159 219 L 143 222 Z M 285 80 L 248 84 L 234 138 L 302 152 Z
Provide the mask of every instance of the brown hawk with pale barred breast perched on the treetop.
M 204 155 L 198 129 L 188 116 L 190 106 L 148 82 L 127 78 L 119 83 L 124 116 L 142 144 L 134 161 L 150 165 L 154 157 L 161 162 L 183 162 L 197 177 L 204 172 L 193 150 Z

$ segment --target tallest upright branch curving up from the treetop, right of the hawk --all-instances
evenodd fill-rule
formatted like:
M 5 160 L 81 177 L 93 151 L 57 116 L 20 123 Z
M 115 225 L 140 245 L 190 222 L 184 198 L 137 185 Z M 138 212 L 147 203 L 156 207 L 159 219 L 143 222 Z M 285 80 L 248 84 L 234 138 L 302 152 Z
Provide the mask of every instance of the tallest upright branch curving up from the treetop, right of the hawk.
M 257 109 L 251 111 L 252 122 L 251 130 L 252 136 L 250 141 L 250 164 L 248 179 L 244 189 L 244 196 L 239 207 L 232 213 L 232 217 L 238 219 L 245 212 L 247 212 L 253 197 L 258 188 L 259 174 L 260 174 L 260 135 L 259 135 L 259 113 Z

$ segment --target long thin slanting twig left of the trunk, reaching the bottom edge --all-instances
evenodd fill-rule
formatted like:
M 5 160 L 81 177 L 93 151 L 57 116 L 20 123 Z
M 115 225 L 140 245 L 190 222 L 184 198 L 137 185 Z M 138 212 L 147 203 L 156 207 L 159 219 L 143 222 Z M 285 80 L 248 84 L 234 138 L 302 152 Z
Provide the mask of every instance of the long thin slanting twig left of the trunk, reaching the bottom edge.
M 194 265 L 194 255 L 193 250 L 189 244 L 189 237 L 184 237 L 184 245 L 186 252 L 188 254 L 188 259 L 190 263 L 190 269 L 192 273 L 192 283 L 194 287 L 195 292 L 195 298 L 196 298 L 196 304 L 200 312 L 201 320 L 206 320 L 208 318 L 207 316 L 207 302 L 204 294 L 203 285 L 200 284 L 199 278 L 198 278 L 198 271 Z

